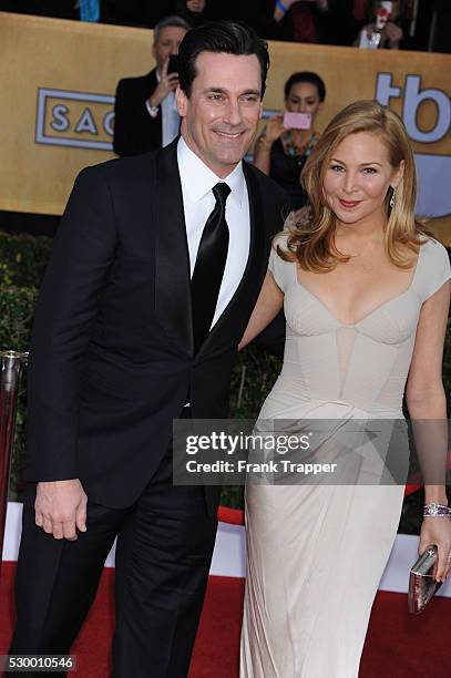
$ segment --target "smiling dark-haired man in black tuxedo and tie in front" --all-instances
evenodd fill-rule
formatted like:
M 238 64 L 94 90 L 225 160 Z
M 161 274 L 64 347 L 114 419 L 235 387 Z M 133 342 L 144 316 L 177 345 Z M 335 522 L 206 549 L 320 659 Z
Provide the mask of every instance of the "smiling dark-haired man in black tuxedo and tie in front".
M 18 623 L 68 653 L 116 546 L 113 676 L 187 675 L 219 487 L 174 486 L 172 422 L 228 413 L 285 193 L 242 157 L 268 53 L 239 23 L 181 45 L 182 138 L 83 170 L 35 312 Z

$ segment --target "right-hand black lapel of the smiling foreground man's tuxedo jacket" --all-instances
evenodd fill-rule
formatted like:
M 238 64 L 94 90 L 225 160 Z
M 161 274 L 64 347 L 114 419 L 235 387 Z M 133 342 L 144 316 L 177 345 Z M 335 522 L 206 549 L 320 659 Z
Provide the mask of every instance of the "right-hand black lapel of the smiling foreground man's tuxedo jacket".
M 265 266 L 265 228 L 264 228 L 264 215 L 262 205 L 262 194 L 255 178 L 255 175 L 249 170 L 246 163 L 243 163 L 244 175 L 246 179 L 248 199 L 249 199 L 249 220 L 250 220 L 250 244 L 249 244 L 249 256 L 247 265 L 243 274 L 243 278 L 232 297 L 230 301 L 224 309 L 224 312 L 218 318 L 217 322 L 213 326 L 208 337 L 199 349 L 202 353 L 208 348 L 215 338 L 221 337 L 223 340 L 225 336 L 234 335 L 235 328 L 235 314 L 242 308 L 242 305 L 246 305 L 246 300 L 253 297 L 254 288 L 258 285 L 260 279 L 262 268 Z M 259 285 L 258 285 L 259 287 Z M 252 311 L 252 308 L 249 309 Z

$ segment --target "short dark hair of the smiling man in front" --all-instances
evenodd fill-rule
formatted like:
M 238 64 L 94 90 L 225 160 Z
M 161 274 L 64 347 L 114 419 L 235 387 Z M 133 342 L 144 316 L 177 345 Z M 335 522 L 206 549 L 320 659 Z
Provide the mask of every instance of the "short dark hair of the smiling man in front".
M 186 33 L 178 49 L 178 82 L 186 96 L 191 96 L 201 52 L 236 56 L 255 54 L 260 64 L 263 97 L 269 69 L 268 44 L 249 25 L 242 21 L 211 21 Z

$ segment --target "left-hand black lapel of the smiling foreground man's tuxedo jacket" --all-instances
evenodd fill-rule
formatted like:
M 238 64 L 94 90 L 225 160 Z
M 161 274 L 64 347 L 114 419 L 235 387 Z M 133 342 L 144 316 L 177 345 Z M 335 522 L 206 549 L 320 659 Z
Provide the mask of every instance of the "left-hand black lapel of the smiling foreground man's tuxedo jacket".
M 177 140 L 157 153 L 154 204 L 156 315 L 166 335 L 192 356 L 189 253 Z

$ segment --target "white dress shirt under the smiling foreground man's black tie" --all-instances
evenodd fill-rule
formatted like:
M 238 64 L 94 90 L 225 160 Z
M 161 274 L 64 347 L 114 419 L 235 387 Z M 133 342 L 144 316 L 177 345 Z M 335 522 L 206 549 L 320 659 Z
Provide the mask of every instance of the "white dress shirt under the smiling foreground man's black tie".
M 249 258 L 249 199 L 243 173 L 243 164 L 238 163 L 235 170 L 222 179 L 216 176 L 216 174 L 214 174 L 214 172 L 191 151 L 191 148 L 188 148 L 183 137 L 180 138 L 177 144 L 177 162 L 182 181 L 186 238 L 188 243 L 192 276 L 202 232 L 216 202 L 212 188 L 216 186 L 218 182 L 225 182 L 230 188 L 230 194 L 226 202 L 225 214 L 229 232 L 228 253 L 216 310 L 213 317 L 213 327 L 234 296 L 243 278 L 247 259 Z

